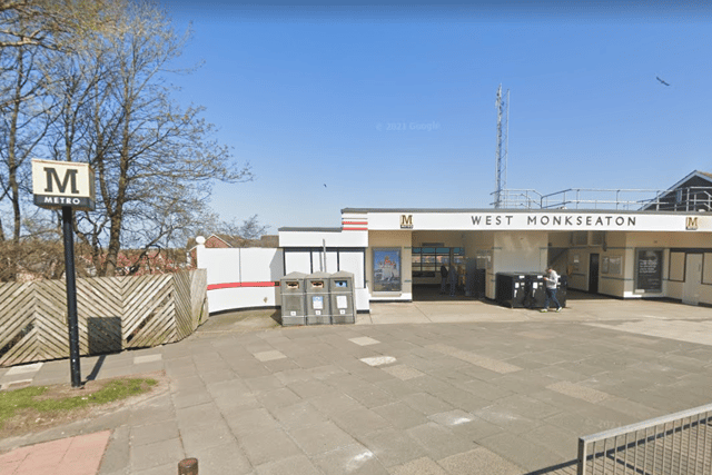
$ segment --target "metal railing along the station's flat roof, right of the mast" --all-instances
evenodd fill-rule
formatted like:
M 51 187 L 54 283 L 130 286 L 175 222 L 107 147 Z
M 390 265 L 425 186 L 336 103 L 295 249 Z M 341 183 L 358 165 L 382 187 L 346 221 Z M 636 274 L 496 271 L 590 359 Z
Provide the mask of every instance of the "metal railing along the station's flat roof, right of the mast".
M 712 192 L 709 187 L 666 190 L 570 188 L 548 195 L 533 189 L 503 189 L 500 190 L 498 199 L 498 202 L 490 205 L 506 209 L 712 211 Z

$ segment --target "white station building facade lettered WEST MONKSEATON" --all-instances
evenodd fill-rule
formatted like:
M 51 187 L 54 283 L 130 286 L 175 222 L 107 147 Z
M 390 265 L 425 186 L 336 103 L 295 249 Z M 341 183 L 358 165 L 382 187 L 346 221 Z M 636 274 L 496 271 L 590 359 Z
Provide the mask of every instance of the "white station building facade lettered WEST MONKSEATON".
M 356 308 L 409 301 L 446 263 L 497 273 L 553 266 L 568 288 L 712 305 L 712 214 L 612 210 L 342 210 L 338 228 L 280 228 L 284 271 L 355 275 Z

